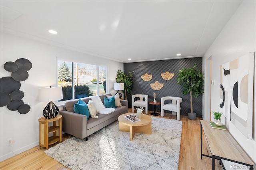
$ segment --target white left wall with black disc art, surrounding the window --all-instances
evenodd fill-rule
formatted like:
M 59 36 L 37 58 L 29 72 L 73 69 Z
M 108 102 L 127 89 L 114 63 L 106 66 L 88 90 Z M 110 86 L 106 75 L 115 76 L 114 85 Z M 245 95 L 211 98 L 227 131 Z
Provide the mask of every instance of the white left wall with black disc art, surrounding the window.
M 57 63 L 56 57 L 66 60 L 97 64 L 107 67 L 107 92 L 115 94 L 114 82 L 118 69 L 123 70 L 123 63 L 86 55 L 76 51 L 47 45 L 16 36 L 1 33 L 1 77 L 11 76 L 4 69 L 4 63 L 26 58 L 31 61 L 32 69 L 29 77 L 21 82 L 20 90 L 24 92 L 24 104 L 30 105 L 30 112 L 21 115 L 18 111 L 10 111 L 6 106 L 0 107 L 0 160 L 14 156 L 11 146 L 6 146 L 6 140 L 13 138 L 13 151 L 21 153 L 39 144 L 39 123 L 42 110 L 47 103 L 38 101 L 38 88 L 56 86 Z

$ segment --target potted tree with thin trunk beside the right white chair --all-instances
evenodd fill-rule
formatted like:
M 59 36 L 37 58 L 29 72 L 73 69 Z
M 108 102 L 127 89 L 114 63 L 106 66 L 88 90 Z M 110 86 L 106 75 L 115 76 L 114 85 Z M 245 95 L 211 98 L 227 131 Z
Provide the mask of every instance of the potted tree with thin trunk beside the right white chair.
M 177 77 L 177 83 L 183 85 L 182 95 L 190 93 L 190 112 L 188 112 L 188 119 L 195 120 L 196 113 L 193 112 L 192 97 L 197 98 L 204 93 L 204 75 L 201 70 L 197 70 L 196 64 L 190 68 L 183 68 Z

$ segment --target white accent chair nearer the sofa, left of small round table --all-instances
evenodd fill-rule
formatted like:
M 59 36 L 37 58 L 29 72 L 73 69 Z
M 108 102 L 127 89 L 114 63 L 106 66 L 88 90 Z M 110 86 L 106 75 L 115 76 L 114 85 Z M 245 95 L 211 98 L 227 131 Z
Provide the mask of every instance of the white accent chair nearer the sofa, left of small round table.
M 136 97 L 140 100 L 135 101 Z M 132 113 L 134 113 L 134 107 L 145 107 L 145 113 L 148 114 L 148 95 L 132 95 Z

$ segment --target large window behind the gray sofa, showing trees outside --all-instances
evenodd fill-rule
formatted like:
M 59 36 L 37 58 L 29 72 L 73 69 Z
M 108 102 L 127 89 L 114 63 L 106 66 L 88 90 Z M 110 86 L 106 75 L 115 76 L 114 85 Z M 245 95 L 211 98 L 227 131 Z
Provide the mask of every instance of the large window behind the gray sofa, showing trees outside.
M 105 94 L 106 67 L 58 60 L 58 86 L 63 91 L 60 101 Z

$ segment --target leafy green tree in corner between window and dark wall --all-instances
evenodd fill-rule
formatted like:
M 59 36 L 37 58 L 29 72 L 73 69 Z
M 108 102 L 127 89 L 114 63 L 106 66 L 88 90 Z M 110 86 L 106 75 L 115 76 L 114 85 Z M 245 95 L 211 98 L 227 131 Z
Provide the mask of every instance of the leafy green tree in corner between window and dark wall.
M 134 71 L 129 71 L 127 75 L 123 71 L 118 70 L 116 75 L 116 83 L 124 83 L 124 93 L 125 99 L 127 100 L 127 93 L 132 94 L 132 73 Z

